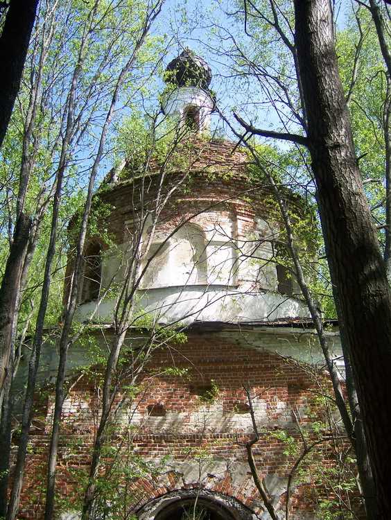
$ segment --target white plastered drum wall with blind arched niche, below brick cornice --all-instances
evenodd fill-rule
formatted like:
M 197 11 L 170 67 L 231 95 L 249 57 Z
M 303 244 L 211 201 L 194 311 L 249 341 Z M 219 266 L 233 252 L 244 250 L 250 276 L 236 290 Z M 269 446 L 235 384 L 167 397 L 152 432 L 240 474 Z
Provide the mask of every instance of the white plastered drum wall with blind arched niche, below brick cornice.
M 149 238 L 146 229 L 145 243 Z M 137 292 L 137 307 L 143 313 L 155 315 L 158 322 L 186 324 L 309 316 L 302 300 L 277 291 L 272 261 L 272 244 L 279 234 L 276 224 L 215 210 L 191 219 L 166 240 L 171 229 L 173 225 L 157 228 L 141 263 L 143 269 L 153 258 Z M 101 293 L 110 284 L 113 288 L 121 285 L 131 254 L 129 243 L 124 241 L 115 251 L 103 254 Z M 97 310 L 96 302 L 80 305 L 78 318 L 88 320 L 94 313 L 94 320 L 112 322 L 113 293 L 107 294 Z

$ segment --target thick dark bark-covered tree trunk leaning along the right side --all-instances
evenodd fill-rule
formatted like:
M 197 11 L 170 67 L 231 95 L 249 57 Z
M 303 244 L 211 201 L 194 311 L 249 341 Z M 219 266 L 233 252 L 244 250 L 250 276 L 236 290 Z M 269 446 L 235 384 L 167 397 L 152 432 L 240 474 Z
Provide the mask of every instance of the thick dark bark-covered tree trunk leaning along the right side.
M 356 162 L 329 0 L 295 0 L 299 59 L 324 242 L 379 505 L 391 518 L 391 294 Z

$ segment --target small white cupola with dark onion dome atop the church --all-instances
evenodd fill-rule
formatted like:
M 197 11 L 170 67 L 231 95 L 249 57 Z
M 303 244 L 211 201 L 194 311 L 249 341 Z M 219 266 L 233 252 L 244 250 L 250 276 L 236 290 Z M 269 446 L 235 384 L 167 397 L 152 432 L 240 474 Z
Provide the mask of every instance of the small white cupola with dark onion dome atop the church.
M 164 80 L 168 89 L 162 102 L 164 114 L 177 119 L 189 130 L 207 130 L 215 105 L 209 89 L 211 78 L 207 62 L 185 49 L 166 68 Z

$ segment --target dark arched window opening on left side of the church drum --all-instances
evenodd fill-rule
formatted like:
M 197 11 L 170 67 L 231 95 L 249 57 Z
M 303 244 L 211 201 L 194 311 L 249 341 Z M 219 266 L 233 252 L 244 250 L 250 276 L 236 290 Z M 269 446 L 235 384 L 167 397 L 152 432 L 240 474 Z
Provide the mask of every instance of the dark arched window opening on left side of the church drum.
M 80 303 L 98 300 L 102 279 L 101 245 L 92 242 L 88 245 L 84 257 L 82 277 L 82 295 Z

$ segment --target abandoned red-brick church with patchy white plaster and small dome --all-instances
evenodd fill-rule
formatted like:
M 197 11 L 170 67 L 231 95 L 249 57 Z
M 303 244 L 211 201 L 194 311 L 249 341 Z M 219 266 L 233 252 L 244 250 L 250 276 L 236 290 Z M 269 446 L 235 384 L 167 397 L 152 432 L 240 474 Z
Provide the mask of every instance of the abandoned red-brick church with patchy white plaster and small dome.
M 89 344 L 107 352 L 126 285 L 135 318 L 124 343 L 128 357 L 116 371 L 124 384 L 107 434 L 111 469 L 102 465 L 107 481 L 126 478 L 101 489 L 98 517 L 270 519 L 248 458 L 257 435 L 251 450 L 272 507 L 283 515 L 289 501 L 290 519 L 315 520 L 314 482 L 327 443 L 314 448 L 315 467 L 304 460 L 306 471 L 293 474 L 293 467 L 300 435 L 311 435 L 311 423 L 320 421 L 313 403 L 324 362 L 295 279 L 275 261 L 281 224 L 270 191 L 249 180 L 243 149 L 207 133 L 215 109 L 208 64 L 186 50 L 167 70 L 162 112 L 175 121 L 180 142 L 175 137 L 174 150 L 171 141 L 163 161 L 150 157 L 148 168 L 144 161 L 141 173 L 130 160 L 114 168 L 96 194 L 110 211 L 104 232 L 91 234 L 85 249 L 77 319 L 88 324 L 88 338 L 69 351 L 58 517 L 78 518 L 80 474 L 87 474 L 100 415 L 98 376 L 85 368 Z M 151 329 L 159 343 L 150 342 Z M 332 324 L 329 333 L 338 358 Z M 137 358 L 141 344 L 148 348 Z M 22 499 L 21 517 L 31 519 L 42 516 L 40 474 L 58 361 L 53 345 L 44 355 L 42 420 L 33 422 Z

